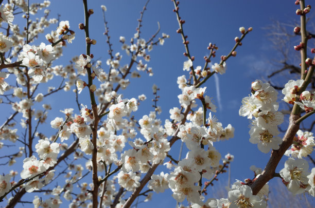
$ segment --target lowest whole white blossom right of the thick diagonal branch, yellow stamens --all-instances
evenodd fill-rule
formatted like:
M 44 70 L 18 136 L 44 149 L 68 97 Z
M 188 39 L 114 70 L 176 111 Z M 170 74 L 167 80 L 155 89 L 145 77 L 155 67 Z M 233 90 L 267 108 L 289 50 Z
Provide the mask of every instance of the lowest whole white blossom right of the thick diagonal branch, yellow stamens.
M 304 159 L 293 160 L 289 158 L 285 167 L 279 172 L 281 177 L 288 182 L 287 188 L 293 194 L 301 194 L 308 184 L 308 163 Z

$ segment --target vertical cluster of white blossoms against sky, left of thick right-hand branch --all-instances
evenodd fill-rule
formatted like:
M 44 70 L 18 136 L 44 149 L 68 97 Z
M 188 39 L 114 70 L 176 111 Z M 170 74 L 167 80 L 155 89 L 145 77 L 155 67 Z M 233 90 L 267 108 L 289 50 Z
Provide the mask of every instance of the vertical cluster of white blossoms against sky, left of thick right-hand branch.
M 250 142 L 258 144 L 258 149 L 268 153 L 278 149 L 282 139 L 278 137 L 277 126 L 283 122 L 283 114 L 278 112 L 276 102 L 278 92 L 269 83 L 256 80 L 252 83 L 252 95 L 242 99 L 239 115 L 251 120 Z

